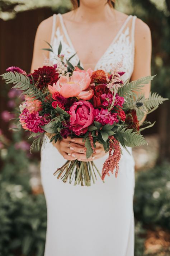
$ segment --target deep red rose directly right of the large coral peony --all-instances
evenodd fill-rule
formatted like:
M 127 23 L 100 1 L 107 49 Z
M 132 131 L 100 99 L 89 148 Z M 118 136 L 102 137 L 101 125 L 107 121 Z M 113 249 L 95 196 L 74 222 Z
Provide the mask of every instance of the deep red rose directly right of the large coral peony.
M 99 85 L 91 85 L 91 89 L 93 89 L 93 97 L 91 100 L 93 101 L 94 108 L 99 108 L 102 106 L 101 102 L 101 95 L 104 93 L 109 93 L 109 89 L 105 84 L 99 84 Z

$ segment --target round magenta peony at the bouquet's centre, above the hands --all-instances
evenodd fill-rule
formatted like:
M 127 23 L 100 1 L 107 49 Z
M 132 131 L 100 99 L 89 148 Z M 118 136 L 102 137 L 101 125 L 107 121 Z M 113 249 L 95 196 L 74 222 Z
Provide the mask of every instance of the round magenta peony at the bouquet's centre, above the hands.
M 94 107 L 89 101 L 75 102 L 68 111 L 70 117 L 69 129 L 76 135 L 84 134 L 94 120 Z

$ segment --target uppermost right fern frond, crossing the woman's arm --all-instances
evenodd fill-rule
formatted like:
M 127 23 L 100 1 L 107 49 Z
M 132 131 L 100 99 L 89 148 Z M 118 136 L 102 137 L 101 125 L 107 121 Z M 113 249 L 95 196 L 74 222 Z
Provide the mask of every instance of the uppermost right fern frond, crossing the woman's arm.
M 145 84 L 150 83 L 154 76 L 145 76 L 136 81 L 126 83 L 118 91 L 121 97 L 128 98 L 129 95 L 134 95 L 133 91 L 141 91 Z

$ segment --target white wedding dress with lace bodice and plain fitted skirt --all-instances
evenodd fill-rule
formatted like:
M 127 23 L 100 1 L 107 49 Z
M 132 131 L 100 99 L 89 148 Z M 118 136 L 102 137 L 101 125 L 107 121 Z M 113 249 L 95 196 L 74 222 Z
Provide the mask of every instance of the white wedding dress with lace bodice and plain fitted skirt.
M 123 57 L 123 80 L 130 78 L 134 65 L 136 16 L 128 16 L 94 70 L 105 69 Z M 69 58 L 76 51 L 61 14 L 53 15 L 51 45 Z M 50 60 L 55 63 L 53 53 Z M 79 61 L 76 55 L 71 63 Z M 122 149 L 118 177 L 110 173 L 103 183 L 98 176 L 91 186 L 70 185 L 53 175 L 66 160 L 47 139 L 41 149 L 41 179 L 47 203 L 45 256 L 133 256 L 134 255 L 134 159 L 132 149 Z M 102 170 L 108 155 L 94 160 Z

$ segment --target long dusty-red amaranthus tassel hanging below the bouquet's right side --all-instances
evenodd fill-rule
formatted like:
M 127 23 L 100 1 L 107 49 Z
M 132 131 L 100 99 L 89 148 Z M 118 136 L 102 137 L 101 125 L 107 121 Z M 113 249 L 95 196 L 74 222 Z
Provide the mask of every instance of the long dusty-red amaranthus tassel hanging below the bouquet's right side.
M 112 150 L 114 150 L 113 154 Z M 109 171 L 113 173 L 114 168 L 116 168 L 115 177 L 117 178 L 120 159 L 121 147 L 119 145 L 119 142 L 113 136 L 109 136 L 109 157 L 103 164 L 103 169 L 101 173 L 102 180 L 104 180 L 106 175 L 110 176 Z

